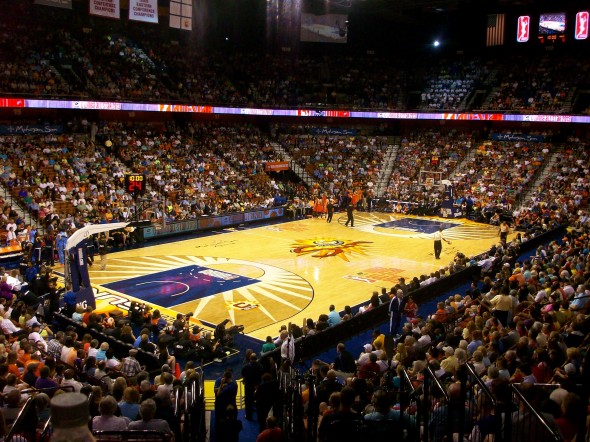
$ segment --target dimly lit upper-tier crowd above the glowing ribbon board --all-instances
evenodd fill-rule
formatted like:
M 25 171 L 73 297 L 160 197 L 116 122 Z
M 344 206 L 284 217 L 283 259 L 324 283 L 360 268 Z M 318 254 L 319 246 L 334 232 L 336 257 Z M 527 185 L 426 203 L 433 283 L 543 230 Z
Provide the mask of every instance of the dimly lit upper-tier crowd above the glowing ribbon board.
M 88 97 L 230 106 L 457 111 L 476 90 L 489 110 L 569 112 L 571 93 L 587 70 L 579 57 L 547 52 L 484 58 L 417 59 L 277 55 L 204 50 L 156 38 L 155 30 L 107 30 L 60 11 L 20 8 L 0 23 L 0 91 L 45 97 Z M 55 26 L 47 23 L 55 22 Z M 261 62 L 261 57 L 263 62 Z M 514 70 L 514 66 L 519 69 Z M 484 99 L 485 102 L 485 99 Z

